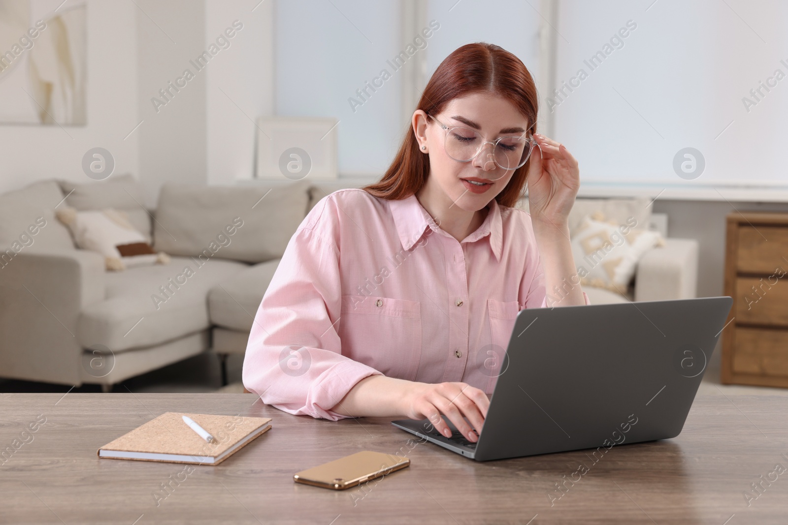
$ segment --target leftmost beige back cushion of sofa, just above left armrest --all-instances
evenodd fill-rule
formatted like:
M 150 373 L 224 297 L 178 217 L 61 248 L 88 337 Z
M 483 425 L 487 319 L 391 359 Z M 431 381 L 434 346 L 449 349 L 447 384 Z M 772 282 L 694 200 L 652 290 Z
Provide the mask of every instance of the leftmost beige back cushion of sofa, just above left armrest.
M 54 216 L 63 200 L 58 183 L 43 180 L 0 195 L 0 257 L 11 250 L 75 250 L 69 229 Z M 35 232 L 35 233 L 34 233 Z M 13 255 L 2 258 L 8 264 Z

